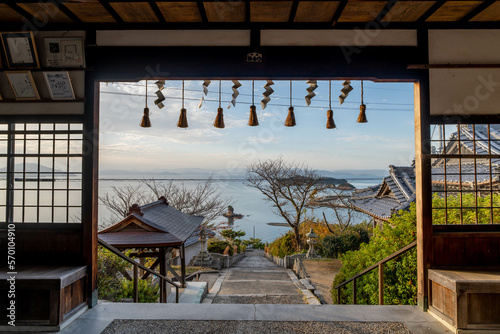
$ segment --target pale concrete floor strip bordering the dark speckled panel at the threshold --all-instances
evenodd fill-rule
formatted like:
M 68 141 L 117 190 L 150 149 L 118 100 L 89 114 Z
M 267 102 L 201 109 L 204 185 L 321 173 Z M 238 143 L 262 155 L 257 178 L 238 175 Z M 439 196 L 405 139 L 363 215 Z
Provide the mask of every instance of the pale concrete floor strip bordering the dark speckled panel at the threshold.
M 100 303 L 59 333 L 98 334 L 114 319 L 401 322 L 413 334 L 450 333 L 414 306 Z

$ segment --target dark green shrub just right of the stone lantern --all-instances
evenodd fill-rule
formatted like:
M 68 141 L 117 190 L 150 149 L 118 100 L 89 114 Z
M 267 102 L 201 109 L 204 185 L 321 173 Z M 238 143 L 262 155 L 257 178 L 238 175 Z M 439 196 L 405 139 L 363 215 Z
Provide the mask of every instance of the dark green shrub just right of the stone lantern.
M 338 258 L 348 251 L 358 250 L 361 244 L 370 241 L 368 224 L 358 224 L 350 227 L 340 235 L 326 236 L 321 240 L 318 252 L 324 257 Z

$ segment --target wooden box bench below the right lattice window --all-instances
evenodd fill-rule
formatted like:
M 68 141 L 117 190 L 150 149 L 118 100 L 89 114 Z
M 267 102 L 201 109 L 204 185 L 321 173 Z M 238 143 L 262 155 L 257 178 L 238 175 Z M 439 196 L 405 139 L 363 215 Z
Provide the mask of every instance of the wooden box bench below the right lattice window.
M 456 332 L 500 331 L 500 271 L 429 269 L 429 312 Z

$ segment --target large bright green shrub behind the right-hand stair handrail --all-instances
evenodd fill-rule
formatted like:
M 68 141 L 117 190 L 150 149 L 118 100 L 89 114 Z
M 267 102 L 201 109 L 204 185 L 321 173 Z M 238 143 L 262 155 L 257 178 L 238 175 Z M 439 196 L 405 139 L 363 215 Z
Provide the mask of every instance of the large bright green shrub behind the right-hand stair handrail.
M 342 268 L 335 276 L 331 296 L 335 303 L 337 292 L 333 287 L 360 273 L 369 266 L 410 244 L 416 239 L 416 209 L 412 203 L 409 211 L 400 211 L 383 228 L 376 228 L 369 243 L 361 244 L 357 251 L 341 255 Z M 384 304 L 416 304 L 417 260 L 413 249 L 384 265 Z M 356 280 L 357 302 L 378 304 L 378 270 Z M 352 303 L 352 283 L 341 290 L 341 302 Z

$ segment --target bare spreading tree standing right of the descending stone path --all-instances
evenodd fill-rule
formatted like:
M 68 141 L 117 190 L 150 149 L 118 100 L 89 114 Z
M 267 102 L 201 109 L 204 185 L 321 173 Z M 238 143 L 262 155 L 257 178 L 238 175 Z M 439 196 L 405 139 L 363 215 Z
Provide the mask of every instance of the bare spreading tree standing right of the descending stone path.
M 247 167 L 245 185 L 266 196 L 275 213 L 293 229 L 299 250 L 299 226 L 310 196 L 324 188 L 322 178 L 304 164 L 287 163 L 282 157 L 259 161 Z

